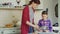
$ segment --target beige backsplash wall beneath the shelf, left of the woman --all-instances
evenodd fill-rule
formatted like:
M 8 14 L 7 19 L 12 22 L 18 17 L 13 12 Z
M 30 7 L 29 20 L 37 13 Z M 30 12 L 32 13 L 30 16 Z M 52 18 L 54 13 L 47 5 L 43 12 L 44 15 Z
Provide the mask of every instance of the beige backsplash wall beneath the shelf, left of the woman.
M 12 23 L 13 17 L 16 17 L 16 20 L 21 21 L 22 11 L 20 10 L 0 10 L 0 27 L 5 24 Z

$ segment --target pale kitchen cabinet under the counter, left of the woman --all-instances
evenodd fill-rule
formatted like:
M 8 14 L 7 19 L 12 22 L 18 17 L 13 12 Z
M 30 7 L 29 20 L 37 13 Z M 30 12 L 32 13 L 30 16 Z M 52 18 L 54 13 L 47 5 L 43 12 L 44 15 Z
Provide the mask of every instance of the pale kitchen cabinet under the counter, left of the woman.
M 20 28 L 0 28 L 0 34 L 20 34 Z

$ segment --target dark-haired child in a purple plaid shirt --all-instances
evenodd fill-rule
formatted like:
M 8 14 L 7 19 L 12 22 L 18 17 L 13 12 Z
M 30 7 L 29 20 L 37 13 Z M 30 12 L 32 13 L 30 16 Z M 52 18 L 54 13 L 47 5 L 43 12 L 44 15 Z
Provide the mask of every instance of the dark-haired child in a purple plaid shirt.
M 42 19 L 39 20 L 38 25 L 41 29 L 41 32 L 52 32 L 52 24 L 51 21 L 48 19 L 47 11 L 42 12 Z

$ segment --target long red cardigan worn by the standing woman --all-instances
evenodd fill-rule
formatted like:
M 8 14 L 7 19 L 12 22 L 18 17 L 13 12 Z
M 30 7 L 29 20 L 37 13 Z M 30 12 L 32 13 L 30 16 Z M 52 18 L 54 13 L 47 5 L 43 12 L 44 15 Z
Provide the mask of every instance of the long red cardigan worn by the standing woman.
M 21 34 L 28 34 L 28 32 L 29 32 L 29 25 L 26 24 L 26 21 L 30 22 L 29 7 L 28 6 L 26 6 L 23 9 L 22 24 L 21 24 Z

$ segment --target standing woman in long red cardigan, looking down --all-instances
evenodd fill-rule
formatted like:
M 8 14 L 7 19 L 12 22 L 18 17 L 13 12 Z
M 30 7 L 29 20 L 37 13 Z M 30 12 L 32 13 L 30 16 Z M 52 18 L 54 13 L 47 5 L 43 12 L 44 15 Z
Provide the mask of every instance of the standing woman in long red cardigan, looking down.
M 34 28 L 38 29 L 38 27 L 34 25 L 34 8 L 36 8 L 39 4 L 39 0 L 31 0 L 23 9 L 21 34 L 33 33 Z

